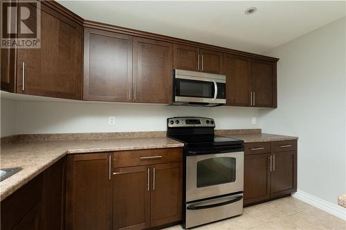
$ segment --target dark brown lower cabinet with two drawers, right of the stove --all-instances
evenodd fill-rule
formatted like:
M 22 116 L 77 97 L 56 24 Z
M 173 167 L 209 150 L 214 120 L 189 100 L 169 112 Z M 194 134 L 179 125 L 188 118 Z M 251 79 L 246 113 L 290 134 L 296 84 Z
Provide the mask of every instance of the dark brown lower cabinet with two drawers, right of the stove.
M 245 144 L 245 205 L 297 191 L 296 147 L 296 140 Z

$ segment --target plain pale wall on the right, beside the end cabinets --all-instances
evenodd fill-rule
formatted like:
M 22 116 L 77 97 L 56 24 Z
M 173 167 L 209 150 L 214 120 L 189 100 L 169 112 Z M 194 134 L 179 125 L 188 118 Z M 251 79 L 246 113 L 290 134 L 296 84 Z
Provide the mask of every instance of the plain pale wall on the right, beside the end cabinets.
M 345 17 L 265 53 L 277 64 L 275 110 L 266 133 L 297 135 L 298 190 L 337 203 L 346 193 Z

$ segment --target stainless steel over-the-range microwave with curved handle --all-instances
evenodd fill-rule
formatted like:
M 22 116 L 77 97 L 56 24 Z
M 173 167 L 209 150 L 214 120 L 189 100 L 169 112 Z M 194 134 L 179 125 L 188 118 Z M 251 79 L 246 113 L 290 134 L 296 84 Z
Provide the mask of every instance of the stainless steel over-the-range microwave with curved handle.
M 226 104 L 226 76 L 174 70 L 174 105 L 220 106 Z

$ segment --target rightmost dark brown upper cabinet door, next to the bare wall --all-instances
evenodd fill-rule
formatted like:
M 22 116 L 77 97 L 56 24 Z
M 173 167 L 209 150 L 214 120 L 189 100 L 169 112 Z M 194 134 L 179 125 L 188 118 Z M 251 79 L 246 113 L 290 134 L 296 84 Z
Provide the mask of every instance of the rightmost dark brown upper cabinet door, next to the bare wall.
M 253 106 L 276 108 L 276 63 L 251 60 L 251 79 Z

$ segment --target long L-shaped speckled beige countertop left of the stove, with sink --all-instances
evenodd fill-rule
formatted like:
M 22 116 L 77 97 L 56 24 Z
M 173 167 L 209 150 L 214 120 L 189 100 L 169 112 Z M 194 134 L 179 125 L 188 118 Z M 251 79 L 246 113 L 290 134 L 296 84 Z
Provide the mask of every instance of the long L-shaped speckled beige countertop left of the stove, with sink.
M 23 170 L 0 182 L 0 201 L 66 154 L 175 147 L 183 144 L 167 137 L 1 144 L 1 169 L 21 167 Z

